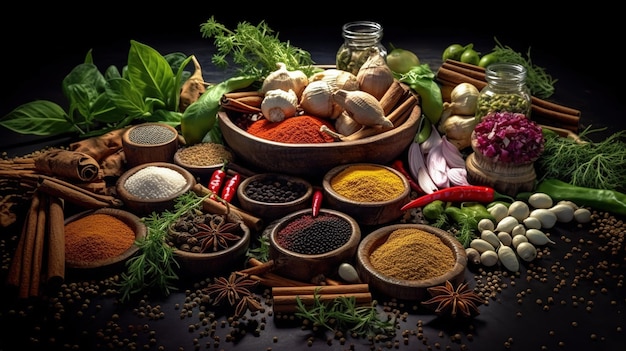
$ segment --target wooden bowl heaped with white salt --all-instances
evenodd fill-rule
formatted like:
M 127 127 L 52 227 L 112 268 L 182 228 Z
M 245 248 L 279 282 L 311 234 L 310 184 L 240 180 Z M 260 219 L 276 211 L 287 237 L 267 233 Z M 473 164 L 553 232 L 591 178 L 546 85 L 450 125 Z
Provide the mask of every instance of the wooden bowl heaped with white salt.
M 133 167 L 117 180 L 116 191 L 130 212 L 147 216 L 171 210 L 176 198 L 190 191 L 196 179 L 189 171 L 168 162 Z

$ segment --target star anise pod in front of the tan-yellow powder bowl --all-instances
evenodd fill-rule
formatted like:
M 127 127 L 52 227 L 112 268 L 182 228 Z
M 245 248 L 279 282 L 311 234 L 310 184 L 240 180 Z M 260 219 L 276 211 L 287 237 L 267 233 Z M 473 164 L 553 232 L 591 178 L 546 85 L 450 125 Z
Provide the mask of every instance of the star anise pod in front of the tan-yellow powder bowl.
M 455 289 L 450 281 L 446 281 L 445 285 L 433 286 L 427 290 L 432 297 L 422 304 L 427 306 L 436 304 L 435 313 L 451 317 L 456 317 L 459 312 L 464 317 L 478 315 L 480 314 L 478 306 L 485 302 L 467 282 L 459 284 Z

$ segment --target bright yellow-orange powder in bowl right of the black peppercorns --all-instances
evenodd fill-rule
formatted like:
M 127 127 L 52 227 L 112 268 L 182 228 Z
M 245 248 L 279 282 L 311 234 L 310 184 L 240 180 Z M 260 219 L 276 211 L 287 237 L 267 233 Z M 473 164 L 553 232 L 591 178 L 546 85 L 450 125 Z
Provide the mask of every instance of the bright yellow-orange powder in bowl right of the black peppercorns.
M 337 194 L 359 202 L 392 200 L 405 190 L 398 175 L 375 165 L 346 167 L 330 180 L 330 185 Z

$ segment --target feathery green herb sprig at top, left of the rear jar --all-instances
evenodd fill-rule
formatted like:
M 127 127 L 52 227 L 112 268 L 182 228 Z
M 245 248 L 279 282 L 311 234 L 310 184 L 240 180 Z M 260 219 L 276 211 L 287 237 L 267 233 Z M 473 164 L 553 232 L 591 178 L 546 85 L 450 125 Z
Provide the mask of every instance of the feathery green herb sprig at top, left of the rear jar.
M 290 71 L 302 70 L 307 76 L 316 71 L 309 52 L 288 41 L 282 42 L 264 21 L 256 26 L 240 22 L 235 30 L 230 30 L 211 16 L 200 26 L 200 32 L 203 38 L 214 38 L 217 53 L 211 61 L 217 67 L 228 67 L 230 58 L 239 66 L 239 74 L 259 78 L 276 70 L 278 62 L 284 63 Z

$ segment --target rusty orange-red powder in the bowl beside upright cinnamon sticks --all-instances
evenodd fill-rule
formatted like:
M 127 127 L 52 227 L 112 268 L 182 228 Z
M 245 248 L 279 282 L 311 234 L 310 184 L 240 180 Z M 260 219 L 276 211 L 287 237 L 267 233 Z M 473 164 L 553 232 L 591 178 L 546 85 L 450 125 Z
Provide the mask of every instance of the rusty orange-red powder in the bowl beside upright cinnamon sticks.
M 65 258 L 95 262 L 121 255 L 135 242 L 135 233 L 114 216 L 95 213 L 65 225 Z

